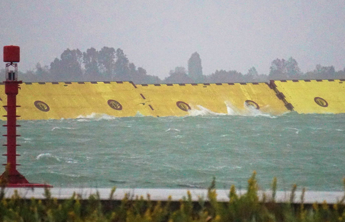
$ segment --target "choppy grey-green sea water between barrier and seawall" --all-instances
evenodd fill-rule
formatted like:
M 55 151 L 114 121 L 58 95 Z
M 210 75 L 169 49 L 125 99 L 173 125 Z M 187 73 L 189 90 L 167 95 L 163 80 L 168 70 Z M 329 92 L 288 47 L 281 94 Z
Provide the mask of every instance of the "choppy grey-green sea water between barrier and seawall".
M 18 122 L 18 169 L 30 182 L 206 188 L 215 176 L 218 189 L 245 189 L 255 170 L 262 189 L 276 176 L 279 190 L 293 183 L 343 190 L 345 114 L 90 115 Z

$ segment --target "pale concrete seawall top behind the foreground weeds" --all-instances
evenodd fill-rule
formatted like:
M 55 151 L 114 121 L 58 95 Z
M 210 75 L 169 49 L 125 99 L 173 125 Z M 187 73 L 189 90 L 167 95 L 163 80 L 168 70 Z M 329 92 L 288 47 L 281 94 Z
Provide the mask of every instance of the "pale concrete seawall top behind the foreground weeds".
M 14 191 L 17 190 L 18 194 L 24 199 L 45 199 L 44 189 L 36 188 L 6 188 L 5 197 L 10 198 Z M 179 201 L 183 197 L 187 196 L 187 191 L 190 191 L 192 201 L 198 202 L 201 199 L 207 200 L 207 189 L 116 189 L 112 200 L 120 201 L 124 199 L 125 195 L 128 194 L 130 199 L 135 199 L 137 196 L 143 196 L 147 198 L 147 194 L 150 194 L 150 200 L 152 201 L 167 201 L 168 197 L 171 196 L 171 201 Z M 88 199 L 91 194 L 99 193 L 100 200 L 109 200 L 111 189 L 110 188 L 52 188 L 50 193 L 52 197 L 59 200 L 70 199 L 73 193 L 79 194 L 81 199 Z M 229 190 L 217 190 L 217 200 L 219 202 L 229 201 Z M 243 195 L 246 190 L 238 190 L 238 195 Z M 258 197 L 263 198 L 266 195 L 266 200 L 270 200 L 272 197 L 272 191 L 258 191 Z M 302 192 L 296 191 L 293 203 L 300 203 L 300 196 Z M 277 191 L 276 202 L 287 203 L 290 200 L 290 191 Z M 304 195 L 305 204 L 322 203 L 326 201 L 328 204 L 335 204 L 344 197 L 344 192 L 329 192 L 329 191 L 306 191 Z

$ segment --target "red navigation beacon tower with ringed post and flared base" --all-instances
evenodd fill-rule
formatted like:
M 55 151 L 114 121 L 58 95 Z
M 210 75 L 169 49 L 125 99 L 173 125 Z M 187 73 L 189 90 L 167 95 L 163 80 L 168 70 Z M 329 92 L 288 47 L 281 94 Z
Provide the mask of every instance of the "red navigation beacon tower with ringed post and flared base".
M 20 146 L 17 144 L 17 103 L 16 103 L 16 96 L 18 94 L 19 84 L 22 81 L 18 81 L 17 79 L 17 63 L 19 62 L 19 46 L 4 46 L 3 47 L 3 61 L 10 62 L 6 64 L 6 81 L 5 84 L 5 93 L 7 95 L 7 106 L 5 109 L 7 110 L 7 124 L 3 125 L 7 127 L 7 134 L 3 135 L 7 137 L 7 144 L 3 146 L 7 146 L 7 154 L 3 154 L 3 156 L 7 156 L 7 170 L 0 176 L 0 180 L 2 184 L 7 187 L 52 187 L 51 185 L 47 184 L 37 184 L 37 183 L 29 183 L 28 180 L 21 175 L 16 167 L 20 164 L 17 164 L 17 156 L 20 156 L 16 152 L 16 147 Z

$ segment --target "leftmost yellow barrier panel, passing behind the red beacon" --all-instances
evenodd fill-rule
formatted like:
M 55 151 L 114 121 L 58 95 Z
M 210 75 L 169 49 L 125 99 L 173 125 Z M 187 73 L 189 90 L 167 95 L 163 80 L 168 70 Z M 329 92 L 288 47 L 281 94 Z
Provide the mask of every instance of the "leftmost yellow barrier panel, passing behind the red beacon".
M 150 115 L 145 107 L 136 106 L 141 100 L 129 82 L 23 83 L 20 87 L 18 119 L 78 118 L 92 113 L 123 117 L 135 116 L 138 111 Z M 3 86 L 0 93 L 6 104 Z

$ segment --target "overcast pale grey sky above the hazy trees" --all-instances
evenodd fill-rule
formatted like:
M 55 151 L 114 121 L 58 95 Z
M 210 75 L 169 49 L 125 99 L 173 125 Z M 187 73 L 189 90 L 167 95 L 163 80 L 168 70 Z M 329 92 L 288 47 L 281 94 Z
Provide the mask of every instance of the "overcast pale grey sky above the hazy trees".
M 21 47 L 19 70 L 50 65 L 66 48 L 120 47 L 160 78 L 187 68 L 197 51 L 203 72 L 294 57 L 302 71 L 345 67 L 345 1 L 2 0 L 0 45 Z M 4 64 L 3 64 L 4 67 Z

